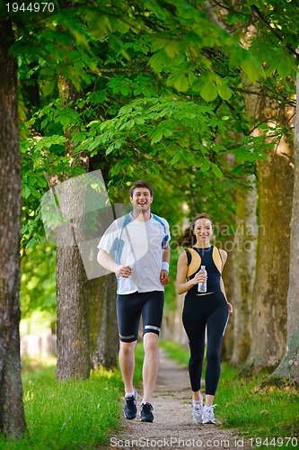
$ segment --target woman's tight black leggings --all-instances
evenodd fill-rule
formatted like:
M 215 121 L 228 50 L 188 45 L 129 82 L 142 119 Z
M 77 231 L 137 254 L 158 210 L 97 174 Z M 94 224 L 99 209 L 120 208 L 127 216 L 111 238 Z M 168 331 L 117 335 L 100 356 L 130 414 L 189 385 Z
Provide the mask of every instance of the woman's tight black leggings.
M 215 395 L 220 377 L 220 347 L 228 320 L 223 293 L 187 294 L 182 321 L 189 338 L 189 377 L 193 392 L 200 390 L 207 326 L 206 394 Z

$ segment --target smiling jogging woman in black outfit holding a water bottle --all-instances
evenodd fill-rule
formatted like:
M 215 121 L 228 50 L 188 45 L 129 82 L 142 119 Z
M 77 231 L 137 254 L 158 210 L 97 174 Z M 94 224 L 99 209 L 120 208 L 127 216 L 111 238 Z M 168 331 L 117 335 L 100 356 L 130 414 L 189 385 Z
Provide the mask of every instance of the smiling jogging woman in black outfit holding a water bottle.
M 220 377 L 220 347 L 229 312 L 233 306 L 227 302 L 222 271 L 227 253 L 210 244 L 213 222 L 201 213 L 191 228 L 177 239 L 182 247 L 189 247 L 178 260 L 176 290 L 186 293 L 182 321 L 189 338 L 189 378 L 193 392 L 192 416 L 198 424 L 215 424 L 213 404 Z M 200 270 L 206 266 L 207 274 Z M 198 284 L 207 281 L 207 292 L 199 293 Z M 203 405 L 201 374 L 205 353 L 207 328 L 207 369 L 205 377 L 206 400 Z

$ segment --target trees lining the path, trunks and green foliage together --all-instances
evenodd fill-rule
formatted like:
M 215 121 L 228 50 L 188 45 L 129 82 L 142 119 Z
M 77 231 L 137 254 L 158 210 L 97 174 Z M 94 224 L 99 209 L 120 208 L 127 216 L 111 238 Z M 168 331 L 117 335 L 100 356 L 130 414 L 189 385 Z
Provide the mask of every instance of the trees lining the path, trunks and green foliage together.
M 173 237 L 186 202 L 190 216 L 211 214 L 222 245 L 228 242 L 224 229 L 231 231 L 234 364 L 277 365 L 285 353 L 287 317 L 287 352 L 276 374 L 297 380 L 296 255 L 286 306 L 298 184 L 295 2 L 53 4 L 54 11 L 34 14 L 2 4 L 0 14 L 0 428 L 17 436 L 25 429 L 18 107 L 23 267 L 41 245 L 40 197 L 48 188 L 55 192 L 70 177 L 100 168 L 110 199 L 126 202 L 128 184 L 145 177 L 154 184 L 155 211 L 169 219 Z M 76 200 L 60 208 L 66 212 Z M 294 253 L 297 208 L 293 202 Z M 58 380 L 86 378 L 91 355 L 94 365 L 113 365 L 117 352 L 114 278 L 88 281 L 78 247 L 66 245 L 68 234 L 71 223 L 57 228 Z M 174 251 L 171 260 L 174 267 Z M 173 286 L 167 295 L 171 310 Z

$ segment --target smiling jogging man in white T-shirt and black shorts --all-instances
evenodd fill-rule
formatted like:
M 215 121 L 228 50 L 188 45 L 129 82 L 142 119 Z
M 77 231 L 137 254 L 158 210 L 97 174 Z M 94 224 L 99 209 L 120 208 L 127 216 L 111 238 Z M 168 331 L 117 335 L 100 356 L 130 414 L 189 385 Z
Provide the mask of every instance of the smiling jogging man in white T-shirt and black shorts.
M 125 384 L 125 417 L 135 419 L 137 414 L 133 374 L 142 316 L 145 358 L 140 420 L 153 422 L 151 401 L 160 362 L 158 340 L 163 291 L 169 282 L 170 230 L 165 219 L 151 212 L 151 184 L 145 180 L 136 181 L 129 195 L 133 211 L 114 220 L 106 230 L 98 245 L 98 262 L 114 272 L 118 280 L 119 365 Z

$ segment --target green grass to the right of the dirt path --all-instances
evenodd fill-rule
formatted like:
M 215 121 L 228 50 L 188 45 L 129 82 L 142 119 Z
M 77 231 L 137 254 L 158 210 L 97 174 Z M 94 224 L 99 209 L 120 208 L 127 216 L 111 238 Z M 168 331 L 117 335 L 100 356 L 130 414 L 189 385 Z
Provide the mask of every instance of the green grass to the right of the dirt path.
M 161 347 L 171 358 L 188 365 L 189 350 L 165 341 Z M 258 446 L 264 442 L 259 448 L 275 448 L 274 444 L 299 448 L 299 392 L 287 383 L 262 383 L 267 376 L 264 373 L 244 377 L 237 368 L 223 364 L 215 396 L 216 415 L 224 428 L 238 429 L 244 439 L 253 439 Z M 293 440 L 277 440 L 278 437 Z

